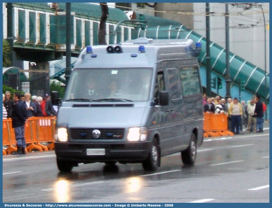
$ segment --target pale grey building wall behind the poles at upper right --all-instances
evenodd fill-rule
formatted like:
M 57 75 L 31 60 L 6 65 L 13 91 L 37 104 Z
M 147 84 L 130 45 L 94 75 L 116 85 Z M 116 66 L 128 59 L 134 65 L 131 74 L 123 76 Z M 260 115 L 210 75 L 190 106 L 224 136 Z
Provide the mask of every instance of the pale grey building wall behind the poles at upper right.
M 269 72 L 269 3 L 263 3 L 265 14 L 267 72 Z M 206 3 L 194 3 L 194 31 L 206 37 Z M 228 6 L 230 51 L 252 64 L 264 69 L 264 18 L 261 8 L 244 10 Z M 225 4 L 210 3 L 211 41 L 225 48 Z M 239 26 L 239 24 L 242 24 Z M 252 26 L 256 25 L 256 26 Z

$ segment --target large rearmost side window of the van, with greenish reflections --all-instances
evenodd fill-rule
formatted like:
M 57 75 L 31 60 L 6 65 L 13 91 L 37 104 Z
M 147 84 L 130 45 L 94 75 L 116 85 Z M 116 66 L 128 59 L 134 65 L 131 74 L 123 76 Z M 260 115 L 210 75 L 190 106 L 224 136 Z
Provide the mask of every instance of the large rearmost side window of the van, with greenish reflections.
M 183 88 L 183 95 L 199 94 L 200 79 L 197 66 L 180 66 L 180 77 Z

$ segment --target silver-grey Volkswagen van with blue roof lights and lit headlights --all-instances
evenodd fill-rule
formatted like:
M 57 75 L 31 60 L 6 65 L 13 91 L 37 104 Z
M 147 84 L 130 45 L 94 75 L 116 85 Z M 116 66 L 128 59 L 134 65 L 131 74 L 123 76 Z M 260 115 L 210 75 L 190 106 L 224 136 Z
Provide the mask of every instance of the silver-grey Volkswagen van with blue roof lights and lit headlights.
M 86 47 L 58 112 L 60 172 L 95 162 L 155 171 L 161 157 L 177 152 L 194 164 L 203 142 L 200 50 L 191 39 Z

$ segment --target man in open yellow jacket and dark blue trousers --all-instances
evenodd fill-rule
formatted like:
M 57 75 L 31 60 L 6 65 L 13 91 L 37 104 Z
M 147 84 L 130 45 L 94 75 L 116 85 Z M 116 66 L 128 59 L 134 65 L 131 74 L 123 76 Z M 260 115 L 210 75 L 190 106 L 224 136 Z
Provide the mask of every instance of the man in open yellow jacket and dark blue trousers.
M 234 134 L 240 134 L 240 123 L 243 115 L 242 105 L 238 102 L 238 98 L 234 97 L 233 102 L 230 103 L 228 114 L 231 120 L 231 131 Z

